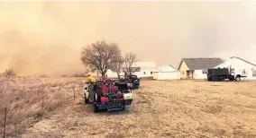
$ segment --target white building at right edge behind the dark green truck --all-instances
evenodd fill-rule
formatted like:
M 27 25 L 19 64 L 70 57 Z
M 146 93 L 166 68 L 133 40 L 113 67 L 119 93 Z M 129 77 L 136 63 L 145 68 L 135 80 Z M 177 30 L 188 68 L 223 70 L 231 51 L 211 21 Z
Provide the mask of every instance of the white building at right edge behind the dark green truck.
M 230 57 L 226 62 L 221 65 L 215 66 L 215 68 L 231 67 L 235 71 L 247 73 L 245 79 L 254 80 L 256 79 L 256 65 L 240 58 L 237 56 Z

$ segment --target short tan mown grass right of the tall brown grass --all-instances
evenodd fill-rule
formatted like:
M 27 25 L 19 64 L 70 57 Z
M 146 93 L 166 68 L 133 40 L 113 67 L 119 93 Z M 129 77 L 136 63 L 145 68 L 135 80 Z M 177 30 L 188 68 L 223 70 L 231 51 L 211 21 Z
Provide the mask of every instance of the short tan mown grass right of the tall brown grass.
M 22 137 L 256 137 L 256 82 L 144 81 L 123 112 L 72 101 Z

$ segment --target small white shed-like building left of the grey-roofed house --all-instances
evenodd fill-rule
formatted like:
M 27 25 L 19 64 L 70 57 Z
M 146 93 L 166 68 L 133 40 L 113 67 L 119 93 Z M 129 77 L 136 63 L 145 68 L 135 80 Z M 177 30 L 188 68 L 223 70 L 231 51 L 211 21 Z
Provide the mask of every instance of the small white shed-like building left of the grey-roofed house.
M 153 72 L 154 80 L 179 80 L 180 75 L 177 68 L 171 65 L 165 65 L 160 67 L 156 72 Z

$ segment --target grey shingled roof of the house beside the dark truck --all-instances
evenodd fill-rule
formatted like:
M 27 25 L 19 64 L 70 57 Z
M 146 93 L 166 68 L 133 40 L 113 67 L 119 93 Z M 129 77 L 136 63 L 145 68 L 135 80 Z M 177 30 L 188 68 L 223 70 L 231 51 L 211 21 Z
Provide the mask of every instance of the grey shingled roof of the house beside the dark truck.
M 184 61 L 187 67 L 191 70 L 214 68 L 225 62 L 222 58 L 182 58 L 180 65 L 182 61 Z M 180 68 L 180 65 L 178 66 L 178 69 Z

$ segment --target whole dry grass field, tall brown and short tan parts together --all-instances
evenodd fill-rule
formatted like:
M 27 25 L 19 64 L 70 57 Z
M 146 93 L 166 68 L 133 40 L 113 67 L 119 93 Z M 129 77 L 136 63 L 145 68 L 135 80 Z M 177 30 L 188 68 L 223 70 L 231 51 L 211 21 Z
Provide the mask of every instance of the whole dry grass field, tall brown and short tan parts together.
M 110 114 L 83 103 L 81 80 L 1 81 L 8 137 L 256 137 L 256 82 L 142 81 L 133 105 Z

